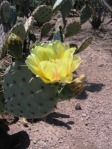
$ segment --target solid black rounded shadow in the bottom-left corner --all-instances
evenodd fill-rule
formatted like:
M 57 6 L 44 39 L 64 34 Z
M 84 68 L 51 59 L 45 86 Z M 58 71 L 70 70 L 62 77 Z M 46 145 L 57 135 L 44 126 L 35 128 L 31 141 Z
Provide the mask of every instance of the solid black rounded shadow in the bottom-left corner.
M 13 135 L 7 132 L 9 127 L 0 120 L 0 149 L 27 149 L 30 145 L 30 139 L 25 131 L 20 131 Z

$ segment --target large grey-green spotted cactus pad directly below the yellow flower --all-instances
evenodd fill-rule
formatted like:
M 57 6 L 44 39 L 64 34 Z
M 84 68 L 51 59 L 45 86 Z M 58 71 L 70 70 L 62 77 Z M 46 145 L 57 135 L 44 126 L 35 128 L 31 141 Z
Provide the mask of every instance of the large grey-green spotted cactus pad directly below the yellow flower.
M 25 118 L 42 118 L 55 109 L 58 102 L 55 86 L 36 78 L 24 62 L 12 63 L 3 79 L 8 113 Z

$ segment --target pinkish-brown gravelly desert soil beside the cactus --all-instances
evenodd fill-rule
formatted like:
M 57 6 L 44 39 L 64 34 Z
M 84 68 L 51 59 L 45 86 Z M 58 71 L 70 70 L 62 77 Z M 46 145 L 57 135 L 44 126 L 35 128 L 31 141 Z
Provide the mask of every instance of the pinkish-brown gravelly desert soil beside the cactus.
M 93 36 L 92 44 L 79 54 L 82 64 L 78 72 L 86 75 L 82 94 L 60 102 L 55 113 L 44 120 L 28 122 L 27 126 L 20 121 L 9 125 L 7 140 L 15 141 L 11 144 L 5 139 L 8 147 L 112 149 L 112 23 L 93 31 L 87 22 L 79 34 L 66 40 L 80 45 L 89 35 Z

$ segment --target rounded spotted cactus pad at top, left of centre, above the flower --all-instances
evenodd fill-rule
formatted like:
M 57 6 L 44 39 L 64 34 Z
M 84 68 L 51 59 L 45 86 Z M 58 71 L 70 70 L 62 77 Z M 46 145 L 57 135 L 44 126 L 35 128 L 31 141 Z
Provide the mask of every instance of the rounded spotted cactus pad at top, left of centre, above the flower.
M 52 16 L 51 8 L 46 5 L 41 5 L 33 11 L 32 16 L 37 22 L 48 22 Z

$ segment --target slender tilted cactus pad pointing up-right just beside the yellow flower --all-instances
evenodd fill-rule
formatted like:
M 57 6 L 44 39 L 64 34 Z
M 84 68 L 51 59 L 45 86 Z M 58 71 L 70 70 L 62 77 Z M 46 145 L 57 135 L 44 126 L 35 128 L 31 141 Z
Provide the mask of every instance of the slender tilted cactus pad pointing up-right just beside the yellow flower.
M 80 47 L 76 50 L 76 54 L 79 52 L 82 52 L 83 50 L 85 50 L 92 42 L 93 38 L 92 37 L 87 37 L 82 44 L 80 45 Z

